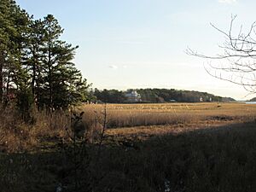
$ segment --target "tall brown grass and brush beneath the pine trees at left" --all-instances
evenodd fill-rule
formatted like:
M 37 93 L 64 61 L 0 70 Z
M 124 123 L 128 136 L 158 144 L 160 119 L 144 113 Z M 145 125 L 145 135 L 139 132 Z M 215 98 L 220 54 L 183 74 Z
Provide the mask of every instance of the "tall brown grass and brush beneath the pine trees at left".
M 42 138 L 61 137 L 70 126 L 69 113 L 33 111 L 31 122 L 25 122 L 14 107 L 0 109 L 0 150 L 29 150 Z

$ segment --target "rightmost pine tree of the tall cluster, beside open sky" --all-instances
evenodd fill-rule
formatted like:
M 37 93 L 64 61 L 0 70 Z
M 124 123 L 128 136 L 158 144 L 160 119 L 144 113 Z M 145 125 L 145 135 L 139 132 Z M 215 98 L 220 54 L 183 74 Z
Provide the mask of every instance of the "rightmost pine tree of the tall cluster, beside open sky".
M 82 75 L 73 61 L 75 50 L 61 41 L 63 29 L 53 15 L 44 18 L 43 50 L 43 81 L 44 101 L 42 104 L 49 108 L 67 108 L 68 105 L 85 100 L 90 85 L 82 79 Z

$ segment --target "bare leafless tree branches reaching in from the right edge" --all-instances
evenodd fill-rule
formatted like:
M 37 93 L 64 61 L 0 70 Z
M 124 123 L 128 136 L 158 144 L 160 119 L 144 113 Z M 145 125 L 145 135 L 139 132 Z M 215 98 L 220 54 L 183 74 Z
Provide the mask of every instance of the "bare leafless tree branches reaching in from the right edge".
M 235 32 L 231 16 L 230 29 L 225 32 L 214 26 L 224 35 L 224 43 L 218 45 L 222 52 L 218 55 L 203 55 L 193 49 L 186 49 L 188 55 L 209 59 L 205 66 L 207 73 L 215 78 L 242 85 L 249 93 L 256 93 L 256 21 L 245 32 L 243 26 Z

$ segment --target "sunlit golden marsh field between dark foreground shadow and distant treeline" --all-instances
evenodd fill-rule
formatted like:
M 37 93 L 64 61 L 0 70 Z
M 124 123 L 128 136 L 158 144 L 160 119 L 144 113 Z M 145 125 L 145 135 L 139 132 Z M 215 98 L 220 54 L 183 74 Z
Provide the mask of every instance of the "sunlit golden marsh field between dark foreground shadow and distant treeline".
M 105 105 L 79 107 L 84 122 L 102 115 Z M 212 126 L 253 121 L 256 105 L 246 103 L 201 102 L 164 104 L 107 104 L 107 136 L 147 138 L 154 135 L 193 131 Z

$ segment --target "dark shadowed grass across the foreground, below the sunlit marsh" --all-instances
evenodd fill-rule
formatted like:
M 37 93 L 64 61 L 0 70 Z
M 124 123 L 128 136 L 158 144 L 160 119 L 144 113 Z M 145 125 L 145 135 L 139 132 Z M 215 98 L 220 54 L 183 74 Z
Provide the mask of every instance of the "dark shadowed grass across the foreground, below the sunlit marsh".
M 247 123 L 152 137 L 140 148 L 106 145 L 100 160 L 92 146 L 91 188 L 79 191 L 161 192 L 166 181 L 171 191 L 255 191 L 255 137 L 254 124 Z M 2 155 L 3 192 L 55 191 L 61 158 L 58 151 Z M 63 191 L 72 191 L 69 183 Z

